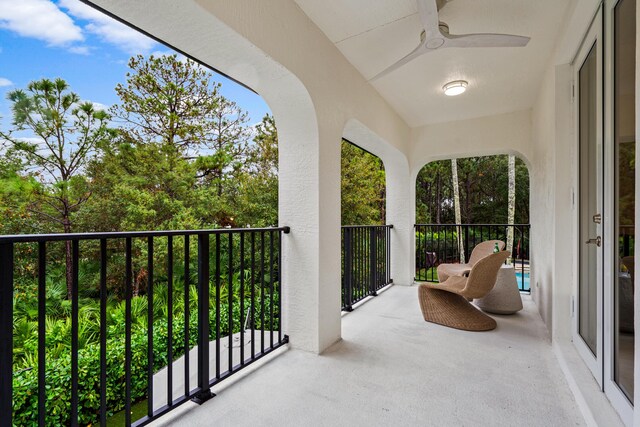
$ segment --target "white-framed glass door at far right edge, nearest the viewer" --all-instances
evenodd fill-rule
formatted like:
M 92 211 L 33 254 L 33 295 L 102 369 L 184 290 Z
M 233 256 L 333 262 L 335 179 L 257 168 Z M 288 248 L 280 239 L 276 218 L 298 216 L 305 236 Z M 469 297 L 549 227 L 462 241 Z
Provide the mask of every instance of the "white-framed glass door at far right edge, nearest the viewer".
M 605 274 L 605 392 L 621 418 L 633 420 L 635 281 L 636 0 L 606 3 L 606 169 L 611 172 Z

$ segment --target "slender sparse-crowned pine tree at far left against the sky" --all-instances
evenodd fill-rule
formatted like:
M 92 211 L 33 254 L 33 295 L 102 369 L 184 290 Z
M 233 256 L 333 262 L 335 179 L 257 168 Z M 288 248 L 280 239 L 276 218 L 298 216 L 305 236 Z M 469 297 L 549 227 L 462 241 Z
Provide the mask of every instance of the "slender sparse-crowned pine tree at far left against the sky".
M 13 126 L 0 131 L 6 154 L 14 163 L 12 192 L 25 194 L 23 200 L 9 199 L 9 206 L 36 213 L 51 222 L 54 230 L 70 232 L 73 216 L 87 201 L 91 192 L 82 173 L 101 146 L 108 146 L 113 131 L 107 127 L 110 116 L 71 92 L 64 80 L 41 79 L 27 85 L 26 90 L 13 90 L 7 98 L 12 103 Z M 21 137 L 28 132 L 31 139 Z M 16 166 L 19 166 L 16 167 Z M 40 185 L 17 179 L 23 169 L 24 178 Z M 22 181 L 22 182 L 21 182 Z M 21 185 L 22 184 L 22 185 Z M 29 200 L 25 203 L 25 199 Z

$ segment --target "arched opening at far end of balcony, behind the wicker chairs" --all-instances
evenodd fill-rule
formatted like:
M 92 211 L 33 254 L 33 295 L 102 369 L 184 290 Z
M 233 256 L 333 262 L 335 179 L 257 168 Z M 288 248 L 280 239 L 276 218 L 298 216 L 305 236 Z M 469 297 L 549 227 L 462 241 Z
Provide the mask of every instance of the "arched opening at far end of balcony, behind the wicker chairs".
M 416 280 L 465 264 L 476 245 L 505 243 L 520 291 L 530 291 L 529 170 L 515 155 L 428 163 L 416 183 Z

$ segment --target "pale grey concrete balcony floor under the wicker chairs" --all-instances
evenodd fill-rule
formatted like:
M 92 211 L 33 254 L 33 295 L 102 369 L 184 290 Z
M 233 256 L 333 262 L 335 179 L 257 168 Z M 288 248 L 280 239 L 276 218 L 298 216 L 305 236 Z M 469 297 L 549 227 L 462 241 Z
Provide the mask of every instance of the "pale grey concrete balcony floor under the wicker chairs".
M 535 304 L 491 332 L 422 319 L 417 287 L 394 286 L 342 318 L 322 355 L 282 350 L 155 425 L 584 425 Z

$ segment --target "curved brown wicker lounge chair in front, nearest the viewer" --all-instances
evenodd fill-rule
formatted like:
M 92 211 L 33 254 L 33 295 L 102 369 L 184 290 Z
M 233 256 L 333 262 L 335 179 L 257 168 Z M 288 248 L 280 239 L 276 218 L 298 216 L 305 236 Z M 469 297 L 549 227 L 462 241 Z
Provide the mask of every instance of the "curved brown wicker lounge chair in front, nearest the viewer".
M 482 298 L 493 289 L 507 251 L 477 261 L 468 277 L 450 276 L 443 283 L 423 283 L 418 287 L 422 316 L 427 322 L 466 331 L 495 329 L 496 321 L 475 308 L 468 299 Z

